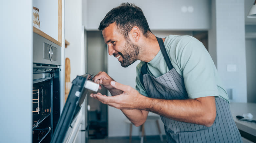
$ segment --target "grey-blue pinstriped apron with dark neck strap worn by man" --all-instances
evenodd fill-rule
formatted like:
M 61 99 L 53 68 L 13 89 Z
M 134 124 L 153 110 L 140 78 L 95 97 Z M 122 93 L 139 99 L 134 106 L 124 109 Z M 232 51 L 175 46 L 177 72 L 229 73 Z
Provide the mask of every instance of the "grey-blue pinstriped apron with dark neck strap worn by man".
M 160 50 L 164 56 L 169 72 L 155 78 L 147 74 L 147 63 L 141 67 L 140 80 L 150 98 L 158 99 L 189 99 L 183 77 L 173 68 L 166 52 L 163 40 L 158 38 Z M 211 127 L 199 124 L 172 120 L 163 116 L 166 140 L 172 142 L 195 143 L 241 143 L 242 138 L 232 118 L 229 104 L 224 99 L 216 97 L 216 119 Z

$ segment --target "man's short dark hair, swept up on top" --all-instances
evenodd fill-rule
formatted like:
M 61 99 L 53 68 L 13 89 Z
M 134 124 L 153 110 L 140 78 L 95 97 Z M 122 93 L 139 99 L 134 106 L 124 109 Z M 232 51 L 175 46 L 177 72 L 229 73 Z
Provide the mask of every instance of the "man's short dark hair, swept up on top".
M 115 22 L 118 30 L 125 38 L 134 26 L 138 26 L 145 37 L 147 37 L 148 32 L 151 32 L 141 8 L 135 6 L 135 4 L 122 3 L 120 6 L 111 9 L 100 22 L 98 29 L 102 31 L 109 24 Z

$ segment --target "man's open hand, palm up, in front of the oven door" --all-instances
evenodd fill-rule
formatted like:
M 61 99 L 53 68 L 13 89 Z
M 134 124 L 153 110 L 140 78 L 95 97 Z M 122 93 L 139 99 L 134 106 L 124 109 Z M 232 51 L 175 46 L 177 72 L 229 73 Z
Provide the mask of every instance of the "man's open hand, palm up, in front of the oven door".
M 143 101 L 142 95 L 139 94 L 137 90 L 130 86 L 126 86 L 115 81 L 111 81 L 111 86 L 123 91 L 123 93 L 108 97 L 102 95 L 101 93 L 91 94 L 90 96 L 97 99 L 101 103 L 110 105 L 117 109 L 139 109 L 140 103 Z

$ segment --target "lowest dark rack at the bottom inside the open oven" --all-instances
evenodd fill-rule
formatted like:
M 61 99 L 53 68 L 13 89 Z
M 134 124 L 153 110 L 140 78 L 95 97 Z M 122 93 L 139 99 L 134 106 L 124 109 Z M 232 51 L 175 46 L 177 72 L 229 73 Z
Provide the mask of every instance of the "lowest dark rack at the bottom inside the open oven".
M 34 136 L 33 138 L 33 142 L 37 142 L 40 143 L 51 131 L 51 127 L 47 127 L 45 129 L 35 129 L 34 131 L 32 131 Z

